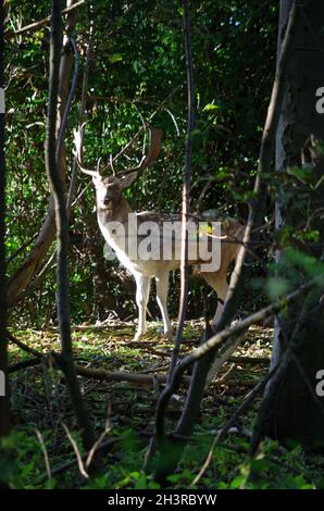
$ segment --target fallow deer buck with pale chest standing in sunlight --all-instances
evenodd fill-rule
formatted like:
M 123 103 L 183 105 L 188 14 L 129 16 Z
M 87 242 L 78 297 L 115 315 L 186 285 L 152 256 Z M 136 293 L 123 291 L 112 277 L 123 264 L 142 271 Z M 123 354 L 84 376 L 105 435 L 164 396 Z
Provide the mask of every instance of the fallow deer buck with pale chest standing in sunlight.
M 180 215 L 175 214 L 160 214 L 155 212 L 134 212 L 124 197 L 124 190 L 127 189 L 136 179 L 138 174 L 152 165 L 157 160 L 160 148 L 162 132 L 160 129 L 149 127 L 151 132 L 151 146 L 147 157 L 141 159 L 140 164 L 135 169 L 127 169 L 117 174 L 114 171 L 112 160 L 110 166 L 114 175 L 103 177 L 100 173 L 99 161 L 97 170 L 85 169 L 82 161 L 82 132 L 75 132 L 75 157 L 77 164 L 82 172 L 92 177 L 96 188 L 97 201 L 97 217 L 101 233 L 113 249 L 120 262 L 134 275 L 136 281 L 136 302 L 138 307 L 138 329 L 136 339 L 147 332 L 147 303 L 150 291 L 151 279 L 154 277 L 157 283 L 157 301 L 161 310 L 164 335 L 172 336 L 172 324 L 167 313 L 167 289 L 169 289 L 169 273 L 180 266 Z M 199 213 L 192 215 L 194 223 L 198 226 L 198 222 L 209 223 L 216 222 L 217 219 L 210 212 Z M 146 224 L 163 225 L 163 230 L 159 230 L 154 238 L 155 251 L 160 252 L 160 247 L 169 241 L 171 242 L 171 257 L 167 259 L 138 256 L 138 246 L 145 239 L 144 227 Z M 170 229 L 165 229 L 165 225 Z M 176 228 L 174 228 L 176 224 Z M 136 227 L 135 227 L 136 225 Z M 122 226 L 122 234 L 119 233 L 119 226 Z M 198 227 L 197 227 L 198 228 Z M 147 230 L 146 230 L 147 232 Z M 162 234 L 161 234 L 162 232 Z M 165 234 L 166 233 L 166 234 Z M 242 226 L 234 220 L 226 220 L 222 222 L 221 229 L 219 229 L 219 237 L 221 238 L 220 246 L 220 266 L 216 271 L 205 271 L 205 260 L 199 257 L 189 258 L 188 264 L 195 265 L 195 273 L 199 274 L 204 281 L 216 291 L 219 306 L 214 316 L 214 322 L 219 319 L 223 303 L 227 294 L 226 274 L 230 262 L 235 259 L 239 241 L 242 235 Z M 220 236 L 221 234 L 221 236 Z M 213 237 L 214 233 L 204 233 L 205 236 Z M 167 240 L 165 239 L 167 237 Z M 125 244 L 126 238 L 126 244 Z M 134 250 L 135 249 L 135 250 Z M 133 257 L 130 254 L 133 252 Z M 135 257 L 134 257 L 135 253 Z M 160 252 L 161 253 L 161 252 Z

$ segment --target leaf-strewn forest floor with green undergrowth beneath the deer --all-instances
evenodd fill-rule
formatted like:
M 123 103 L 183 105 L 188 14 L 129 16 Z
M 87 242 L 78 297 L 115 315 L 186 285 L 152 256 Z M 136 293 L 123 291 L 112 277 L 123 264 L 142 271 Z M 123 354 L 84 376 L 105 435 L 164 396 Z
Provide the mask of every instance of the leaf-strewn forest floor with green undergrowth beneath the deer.
M 134 323 L 84 324 L 73 328 L 75 361 L 84 367 L 120 374 L 147 375 L 146 382 L 99 381 L 79 376 L 82 391 L 97 437 L 113 438 L 103 451 L 105 468 L 91 479 L 80 475 L 70 434 L 79 446 L 68 394 L 62 373 L 51 365 L 51 351 L 59 351 L 59 334 L 47 331 L 11 329 L 32 350 L 46 354 L 37 363 L 35 353 L 10 342 L 11 394 L 13 402 L 14 461 L 11 481 L 14 487 L 150 488 L 153 483 L 142 470 L 145 453 L 154 428 L 154 409 L 161 384 L 151 374 L 165 374 L 172 344 L 159 335 L 157 323 L 144 340 L 135 341 Z M 197 346 L 203 328 L 200 321 L 187 322 L 182 354 Z M 242 399 L 266 374 L 273 332 L 251 327 L 242 345 L 223 366 L 208 388 L 192 441 L 186 448 L 170 487 L 186 488 L 199 472 L 217 431 L 232 416 Z M 35 365 L 15 365 L 26 360 Z M 30 363 L 32 363 L 30 362 Z M 112 376 L 114 378 L 114 376 Z M 121 376 L 117 379 L 123 379 Z M 136 379 L 136 376 L 135 376 Z M 167 427 L 179 417 L 186 385 L 171 401 Z M 323 487 L 323 457 L 308 457 L 299 448 L 292 451 L 266 440 L 257 459 L 248 456 L 249 440 L 260 397 L 237 421 L 226 438 L 216 446 L 212 462 L 197 487 L 200 488 L 314 488 Z M 64 428 L 65 427 L 65 428 Z M 104 429 L 108 429 L 103 435 Z M 67 464 L 66 464 L 67 463 Z M 46 465 L 48 470 L 46 471 Z M 86 465 L 84 466 L 86 471 Z M 250 477 L 251 471 L 253 477 Z

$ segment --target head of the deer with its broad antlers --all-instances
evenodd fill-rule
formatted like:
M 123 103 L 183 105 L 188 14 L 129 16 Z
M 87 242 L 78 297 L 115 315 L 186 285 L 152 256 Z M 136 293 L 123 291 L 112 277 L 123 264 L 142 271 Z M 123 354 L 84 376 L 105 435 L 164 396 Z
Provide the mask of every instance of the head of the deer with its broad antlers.
M 115 211 L 124 200 L 124 190 L 132 185 L 140 172 L 152 165 L 157 160 L 161 149 L 162 130 L 148 126 L 151 133 L 151 145 L 148 154 L 141 158 L 139 165 L 136 167 L 116 172 L 112 158 L 110 159 L 110 163 L 105 165 L 103 170 L 100 170 L 100 159 L 97 161 L 96 171 L 84 167 L 82 162 L 83 127 L 84 125 L 79 127 L 78 130 L 74 132 L 74 154 L 76 157 L 76 162 L 84 174 L 92 177 L 96 188 L 98 210 L 113 213 L 113 211 Z M 113 175 L 104 177 L 103 172 L 109 167 L 112 170 Z

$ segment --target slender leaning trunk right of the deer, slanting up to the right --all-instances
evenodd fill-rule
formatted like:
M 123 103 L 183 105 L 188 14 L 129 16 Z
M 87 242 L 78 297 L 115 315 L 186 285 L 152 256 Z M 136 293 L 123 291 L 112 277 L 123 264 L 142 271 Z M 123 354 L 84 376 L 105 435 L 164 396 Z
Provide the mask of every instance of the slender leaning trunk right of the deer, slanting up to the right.
M 245 228 L 242 245 L 239 249 L 239 252 L 236 258 L 235 269 L 232 272 L 230 282 L 228 286 L 228 291 L 224 304 L 224 310 L 221 315 L 221 319 L 214 325 L 214 334 L 221 335 L 222 332 L 225 332 L 226 326 L 232 321 L 238 306 L 240 294 L 242 290 L 242 283 L 246 278 L 246 271 L 244 269 L 244 262 L 246 260 L 246 254 L 249 250 L 251 242 L 251 229 L 254 225 L 260 225 L 262 219 L 263 203 L 264 203 L 264 184 L 262 183 L 263 175 L 269 175 L 271 171 L 274 139 L 278 125 L 278 117 L 281 108 L 283 104 L 284 98 L 284 76 L 286 73 L 287 64 L 289 62 L 289 54 L 291 48 L 292 33 L 295 28 L 295 18 L 296 18 L 296 9 L 291 10 L 289 15 L 289 22 L 287 24 L 287 29 L 285 30 L 285 38 L 283 41 L 283 51 L 281 53 L 278 66 L 276 70 L 276 75 L 273 84 L 273 89 L 271 94 L 271 100 L 267 109 L 267 115 L 264 124 L 258 172 L 254 180 L 253 194 L 254 198 L 249 202 L 249 215 L 247 225 Z M 202 347 L 204 342 L 211 337 L 211 333 L 205 329 L 205 334 L 201 339 Z M 178 424 L 175 429 L 175 434 L 179 436 L 190 436 L 195 422 L 197 420 L 200 402 L 202 399 L 203 388 L 208 378 L 208 373 L 211 369 L 211 365 L 215 358 L 215 352 L 219 350 L 219 346 L 215 345 L 208 353 L 203 354 L 194 366 L 191 384 L 187 395 L 187 399 L 184 406 L 182 416 L 178 421 Z M 219 369 L 220 358 L 222 357 L 221 350 L 217 353 L 216 369 Z M 180 364 L 178 364 L 180 366 Z M 176 388 L 176 369 L 171 379 L 169 386 L 161 394 L 160 399 L 157 406 L 155 414 L 155 432 L 158 444 L 160 444 L 161 452 L 164 451 L 164 460 L 162 458 L 162 463 L 155 473 L 157 479 L 164 481 L 165 476 L 172 472 L 179 456 L 184 448 L 185 443 L 180 439 L 173 439 L 173 445 L 170 447 L 167 445 L 165 433 L 164 433 L 164 414 L 166 409 L 167 400 L 170 399 L 171 394 Z M 213 373 L 213 371 L 212 371 Z M 215 374 L 213 374 L 215 376 Z M 174 385 L 173 385 L 174 384 Z M 151 444 L 153 446 L 153 444 Z M 165 456 L 166 453 L 166 456 Z M 147 469 L 150 470 L 150 462 L 153 456 L 153 448 L 149 449 L 147 456 Z

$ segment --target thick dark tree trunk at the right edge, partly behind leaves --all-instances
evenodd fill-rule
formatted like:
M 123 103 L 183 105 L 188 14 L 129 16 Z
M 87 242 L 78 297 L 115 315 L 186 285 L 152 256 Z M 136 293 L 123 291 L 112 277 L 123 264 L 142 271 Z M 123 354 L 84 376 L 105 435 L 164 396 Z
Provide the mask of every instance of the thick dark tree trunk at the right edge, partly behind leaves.
M 278 34 L 278 54 L 291 0 L 282 0 Z M 287 170 L 311 165 L 312 184 L 319 183 L 324 174 L 324 160 L 319 150 L 312 147 L 307 152 L 312 154 L 308 162 L 302 162 L 301 153 L 310 135 L 324 140 L 324 117 L 315 108 L 316 90 L 324 86 L 324 66 L 322 48 L 324 47 L 324 10 L 322 0 L 311 0 L 298 8 L 296 35 L 291 50 L 289 70 L 286 76 L 286 90 L 276 136 L 276 170 L 279 179 L 287 176 Z M 282 183 L 282 180 L 281 180 Z M 283 188 L 285 182 L 283 182 Z M 310 187 L 295 184 L 290 200 L 287 195 L 278 196 L 276 202 L 276 229 L 283 226 L 292 227 L 294 232 L 304 226 L 319 208 L 324 205 L 323 186 L 310 191 Z M 307 208 L 302 194 L 308 192 Z M 324 226 L 321 216 L 311 223 L 312 229 L 320 233 L 323 244 Z M 321 258 L 322 248 L 304 244 L 304 247 L 292 246 L 300 253 Z M 319 244 L 320 245 L 320 244 Z M 291 245 L 290 245 L 291 247 Z M 285 258 L 287 248 L 276 253 L 278 263 Z M 281 266 L 279 266 L 281 267 Z M 304 269 L 296 270 L 299 281 L 307 278 Z M 286 277 L 285 271 L 278 276 Z M 316 395 L 316 374 L 324 369 L 324 314 L 321 297 L 323 289 L 315 288 L 306 299 L 298 300 L 289 307 L 288 313 L 275 322 L 274 346 L 271 367 L 284 358 L 286 348 L 292 348 L 291 356 L 277 371 L 267 385 L 261 404 L 256 431 L 259 439 L 264 434 L 277 438 L 287 445 L 302 444 L 309 449 L 324 449 L 324 398 Z

